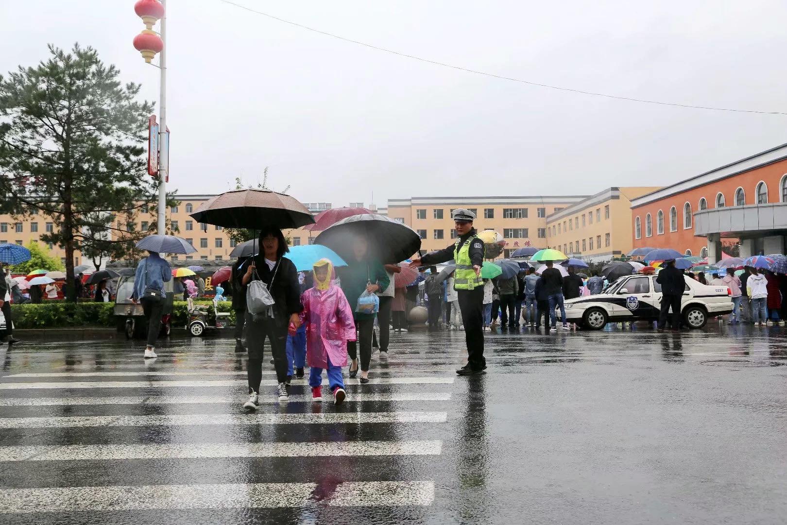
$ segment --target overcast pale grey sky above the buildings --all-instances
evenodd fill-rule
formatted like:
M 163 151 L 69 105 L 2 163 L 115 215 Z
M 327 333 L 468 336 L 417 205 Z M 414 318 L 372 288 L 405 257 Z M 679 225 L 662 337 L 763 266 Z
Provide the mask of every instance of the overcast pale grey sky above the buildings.
M 787 111 L 787 3 L 260 2 L 349 39 L 503 76 L 693 105 Z M 0 71 L 94 46 L 158 99 L 134 0 L 0 2 Z M 787 142 L 787 116 L 528 86 L 343 42 L 219 0 L 168 2 L 171 184 L 235 176 L 301 201 L 592 194 L 674 183 Z

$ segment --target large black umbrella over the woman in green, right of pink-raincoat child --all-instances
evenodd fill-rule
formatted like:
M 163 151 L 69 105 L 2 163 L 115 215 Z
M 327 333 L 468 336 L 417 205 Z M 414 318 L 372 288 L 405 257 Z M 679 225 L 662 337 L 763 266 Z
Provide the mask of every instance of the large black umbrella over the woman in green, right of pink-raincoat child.
M 374 213 L 342 219 L 317 235 L 315 242 L 346 261 L 353 259 L 353 242 L 359 237 L 368 240 L 371 255 L 382 264 L 404 261 L 421 247 L 421 238 L 411 227 Z

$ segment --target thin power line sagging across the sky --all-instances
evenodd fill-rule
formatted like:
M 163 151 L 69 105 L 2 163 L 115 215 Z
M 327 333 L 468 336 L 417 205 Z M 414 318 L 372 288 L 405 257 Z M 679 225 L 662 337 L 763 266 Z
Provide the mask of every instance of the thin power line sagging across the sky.
M 475 73 L 476 75 L 491 76 L 491 77 L 496 78 L 496 79 L 510 80 L 512 82 L 519 82 L 519 83 L 523 83 L 523 84 L 529 84 L 530 86 L 545 87 L 545 88 L 548 88 L 548 89 L 554 89 L 554 90 L 558 90 L 558 91 L 569 91 L 571 93 L 578 93 L 578 94 L 587 94 L 587 95 L 592 95 L 594 97 L 614 98 L 615 100 L 627 100 L 629 102 L 643 102 L 645 104 L 671 105 L 671 106 L 678 107 L 678 108 L 711 109 L 712 111 L 730 111 L 730 112 L 733 112 L 733 113 L 760 113 L 760 114 L 763 114 L 763 115 L 787 115 L 787 112 L 783 112 L 783 111 L 759 111 L 757 109 L 716 108 L 716 107 L 708 106 L 708 105 L 680 104 L 678 102 L 663 102 L 663 101 L 658 101 L 658 100 L 648 100 L 646 98 L 623 97 L 623 96 L 619 96 L 619 95 L 615 95 L 615 94 L 596 93 L 594 91 L 583 91 L 583 90 L 579 90 L 579 89 L 573 89 L 571 87 L 551 86 L 549 84 L 539 83 L 539 82 L 532 82 L 530 80 L 515 79 L 515 78 L 512 78 L 510 76 L 495 75 L 494 73 L 487 73 L 487 72 L 483 72 L 483 71 L 477 71 L 475 69 L 463 68 L 463 67 L 458 66 L 458 65 L 445 64 L 445 62 L 438 62 L 438 61 L 435 61 L 435 60 L 430 60 L 428 58 L 416 57 L 415 55 L 412 55 L 412 54 L 400 53 L 398 51 L 386 49 L 385 47 L 373 46 L 372 44 L 368 44 L 368 43 L 365 43 L 365 42 L 359 42 L 358 40 L 348 39 L 348 38 L 345 38 L 343 36 L 334 35 L 333 33 L 329 33 L 327 31 L 320 31 L 320 29 L 310 28 L 309 26 L 306 26 L 306 25 L 303 25 L 303 24 L 297 24 L 297 22 L 292 22 L 290 20 L 284 20 L 283 18 L 274 17 L 271 14 L 263 13 L 262 11 L 257 11 L 257 9 L 252 9 L 250 7 L 242 6 L 241 4 L 238 4 L 238 3 L 235 3 L 235 2 L 230 2 L 230 0 L 219 0 L 219 2 L 223 2 L 225 4 L 229 4 L 230 6 L 235 6 L 235 7 L 238 7 L 240 9 L 246 9 L 246 11 L 249 11 L 251 13 L 257 13 L 258 15 L 262 15 L 263 17 L 268 17 L 268 18 L 271 18 L 272 20 L 278 20 L 279 22 L 283 22 L 285 24 L 294 25 L 297 28 L 303 28 L 303 29 L 306 29 L 308 31 L 313 31 L 315 33 L 320 33 L 320 35 L 331 36 L 334 39 L 344 40 L 345 42 L 357 44 L 359 46 L 368 47 L 368 48 L 371 48 L 373 50 L 378 50 L 378 51 L 383 51 L 385 53 L 395 54 L 395 55 L 397 55 L 399 57 L 412 58 L 413 60 L 427 62 L 427 64 L 440 65 L 440 66 L 442 66 L 444 68 L 452 68 L 452 69 L 458 69 L 459 71 L 464 71 L 464 72 L 468 72 L 468 73 Z

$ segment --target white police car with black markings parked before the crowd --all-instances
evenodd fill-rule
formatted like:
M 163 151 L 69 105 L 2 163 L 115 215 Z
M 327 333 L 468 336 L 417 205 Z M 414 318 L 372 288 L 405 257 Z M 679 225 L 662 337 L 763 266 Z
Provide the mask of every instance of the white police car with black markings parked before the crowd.
M 685 277 L 681 312 L 690 328 L 701 328 L 708 317 L 733 311 L 732 290 L 700 284 Z M 656 275 L 626 275 L 612 283 L 603 294 L 565 301 L 566 320 L 591 330 L 600 330 L 608 322 L 658 320 L 661 285 Z M 560 310 L 557 312 L 560 317 Z

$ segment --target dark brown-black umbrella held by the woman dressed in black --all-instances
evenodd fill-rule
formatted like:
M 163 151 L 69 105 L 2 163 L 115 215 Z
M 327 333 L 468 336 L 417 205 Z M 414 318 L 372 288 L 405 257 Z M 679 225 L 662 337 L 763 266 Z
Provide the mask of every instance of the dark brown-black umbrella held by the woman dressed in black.
M 314 224 L 314 216 L 305 205 L 271 190 L 225 191 L 203 202 L 191 216 L 205 224 L 257 230 Z

